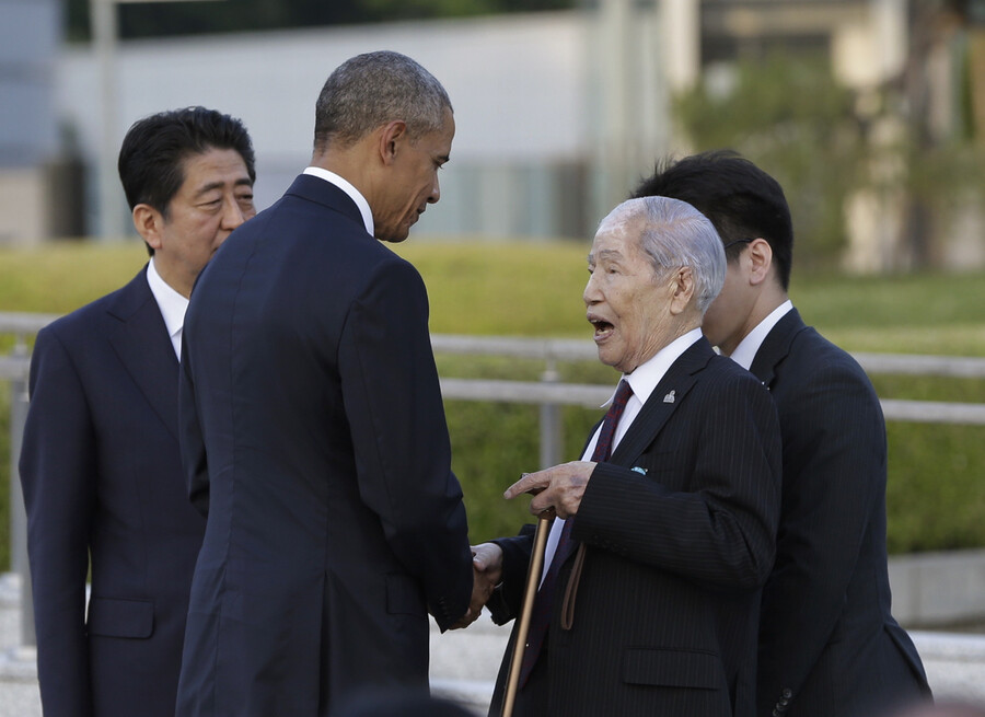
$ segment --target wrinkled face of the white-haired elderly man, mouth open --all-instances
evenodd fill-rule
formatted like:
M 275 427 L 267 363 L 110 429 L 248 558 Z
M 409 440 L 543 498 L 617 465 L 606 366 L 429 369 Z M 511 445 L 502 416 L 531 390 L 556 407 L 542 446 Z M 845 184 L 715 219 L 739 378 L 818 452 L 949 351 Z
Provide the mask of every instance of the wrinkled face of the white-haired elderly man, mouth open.
M 595 327 L 599 360 L 624 373 L 652 358 L 672 340 L 670 279 L 658 276 L 639 247 L 641 219 L 605 221 L 589 254 L 584 288 L 587 319 Z

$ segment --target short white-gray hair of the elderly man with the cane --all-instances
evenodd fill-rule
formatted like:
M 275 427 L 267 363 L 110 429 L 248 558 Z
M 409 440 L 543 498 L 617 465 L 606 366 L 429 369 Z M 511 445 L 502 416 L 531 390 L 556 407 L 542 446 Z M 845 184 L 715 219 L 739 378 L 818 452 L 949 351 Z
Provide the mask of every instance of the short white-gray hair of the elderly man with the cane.
M 686 201 L 670 197 L 629 199 L 613 209 L 603 224 L 614 222 L 625 229 L 642 220 L 639 247 L 653 264 L 654 277 L 682 266 L 694 276 L 698 311 L 705 314 L 721 291 L 726 255 L 715 225 Z

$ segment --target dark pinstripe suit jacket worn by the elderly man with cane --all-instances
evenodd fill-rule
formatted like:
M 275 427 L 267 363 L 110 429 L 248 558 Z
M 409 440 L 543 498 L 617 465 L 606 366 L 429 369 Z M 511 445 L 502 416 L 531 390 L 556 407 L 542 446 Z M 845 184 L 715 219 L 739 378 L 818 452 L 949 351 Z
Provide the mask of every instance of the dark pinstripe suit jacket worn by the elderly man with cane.
M 664 401 L 671 391 L 674 401 Z M 778 431 L 767 392 L 704 338 L 674 362 L 584 493 L 573 626 L 559 625 L 559 597 L 548 632 L 551 715 L 753 714 Z M 531 543 L 500 542 L 502 602 L 490 605 L 498 622 L 519 610 Z M 500 694 L 501 684 L 494 709 Z

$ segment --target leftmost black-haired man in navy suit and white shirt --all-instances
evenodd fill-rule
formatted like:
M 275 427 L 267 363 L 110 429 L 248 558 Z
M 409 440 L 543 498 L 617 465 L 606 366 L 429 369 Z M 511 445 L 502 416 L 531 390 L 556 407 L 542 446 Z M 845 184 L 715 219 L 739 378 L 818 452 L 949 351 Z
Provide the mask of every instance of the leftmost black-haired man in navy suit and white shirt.
M 150 263 L 43 328 L 31 362 L 20 471 L 45 717 L 174 715 L 205 532 L 178 449 L 182 322 L 201 267 L 255 213 L 250 136 L 211 109 L 136 123 L 119 176 Z

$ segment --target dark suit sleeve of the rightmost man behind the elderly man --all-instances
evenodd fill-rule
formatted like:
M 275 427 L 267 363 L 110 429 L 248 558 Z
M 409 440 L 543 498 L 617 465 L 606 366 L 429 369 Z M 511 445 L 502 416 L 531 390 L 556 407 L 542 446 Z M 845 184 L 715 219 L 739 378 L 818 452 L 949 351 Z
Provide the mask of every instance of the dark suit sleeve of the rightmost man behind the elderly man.
M 831 363 L 787 403 L 784 518 L 760 628 L 761 674 L 776 678 L 760 691 L 770 709 L 784 689 L 797 695 L 827 644 L 885 490 L 885 424 L 868 381 Z

